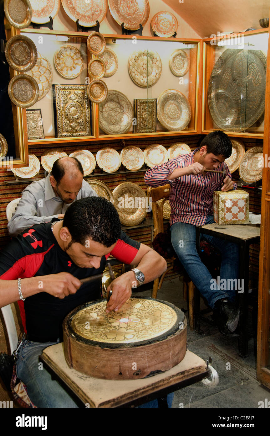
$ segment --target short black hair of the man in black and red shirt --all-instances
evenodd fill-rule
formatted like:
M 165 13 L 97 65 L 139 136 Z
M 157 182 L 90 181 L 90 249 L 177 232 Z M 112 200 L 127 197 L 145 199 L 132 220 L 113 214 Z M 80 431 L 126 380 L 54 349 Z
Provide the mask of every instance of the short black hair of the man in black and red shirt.
M 85 245 L 85 241 L 91 238 L 110 247 L 117 242 L 121 232 L 116 208 L 110 201 L 100 197 L 81 198 L 70 204 L 64 216 L 63 227 L 69 229 L 72 238 L 70 245 L 73 242 Z

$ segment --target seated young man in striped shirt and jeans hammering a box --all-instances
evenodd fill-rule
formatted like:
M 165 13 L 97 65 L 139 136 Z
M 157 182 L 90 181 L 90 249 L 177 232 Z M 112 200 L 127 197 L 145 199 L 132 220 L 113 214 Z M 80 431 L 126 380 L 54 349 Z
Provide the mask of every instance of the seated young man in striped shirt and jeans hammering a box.
M 230 138 L 221 130 L 214 131 L 202 140 L 200 148 L 151 168 L 144 177 L 145 183 L 154 187 L 170 183 L 170 231 L 173 248 L 187 274 L 213 308 L 220 331 L 227 335 L 233 334 L 239 320 L 239 310 L 234 304 L 235 290 L 211 289 L 212 276 L 200 260 L 196 249 L 196 225 L 214 222 L 214 191 L 236 189 L 224 163 L 231 152 Z M 224 167 L 224 180 L 220 173 L 204 171 L 223 170 Z M 226 279 L 228 283 L 228 279 L 237 279 L 238 246 L 213 236 L 203 237 L 221 253 L 220 280 Z

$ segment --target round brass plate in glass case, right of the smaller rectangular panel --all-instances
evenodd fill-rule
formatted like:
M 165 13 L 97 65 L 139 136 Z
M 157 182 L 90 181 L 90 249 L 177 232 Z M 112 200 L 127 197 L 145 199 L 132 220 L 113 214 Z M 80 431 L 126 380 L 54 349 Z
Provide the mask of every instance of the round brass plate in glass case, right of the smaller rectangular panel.
M 191 107 L 185 95 L 167 89 L 157 99 L 157 118 L 167 130 L 183 130 L 191 119 Z

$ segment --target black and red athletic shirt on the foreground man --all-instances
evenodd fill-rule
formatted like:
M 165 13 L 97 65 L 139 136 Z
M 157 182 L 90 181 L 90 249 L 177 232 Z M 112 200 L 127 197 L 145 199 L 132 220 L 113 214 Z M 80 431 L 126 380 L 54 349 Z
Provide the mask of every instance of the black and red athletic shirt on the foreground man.
M 52 221 L 58 220 L 53 218 Z M 37 224 L 25 230 L 3 249 L 0 253 L 0 279 L 25 279 L 58 272 L 70 272 L 78 279 L 83 279 L 103 272 L 109 254 L 101 258 L 98 269 L 78 267 L 58 245 L 51 230 L 51 222 Z M 110 254 L 120 262 L 130 264 L 139 248 L 140 242 L 130 239 L 121 231 Z M 95 280 L 82 284 L 75 294 L 68 295 L 63 300 L 40 292 L 26 298 L 24 303 L 19 301 L 25 331 L 40 339 L 61 338 L 62 323 L 66 315 L 80 304 L 100 298 L 100 283 L 100 280 Z

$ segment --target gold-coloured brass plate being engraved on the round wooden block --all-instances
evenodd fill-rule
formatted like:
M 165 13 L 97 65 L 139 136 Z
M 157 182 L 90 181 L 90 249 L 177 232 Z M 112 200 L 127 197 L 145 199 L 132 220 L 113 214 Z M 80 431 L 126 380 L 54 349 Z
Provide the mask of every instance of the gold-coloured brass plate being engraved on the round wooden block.
M 116 313 L 106 313 L 106 304 L 79 310 L 71 321 L 74 332 L 99 343 L 130 344 L 159 337 L 177 321 L 176 311 L 157 300 L 131 297 Z

